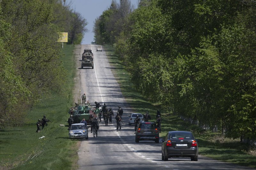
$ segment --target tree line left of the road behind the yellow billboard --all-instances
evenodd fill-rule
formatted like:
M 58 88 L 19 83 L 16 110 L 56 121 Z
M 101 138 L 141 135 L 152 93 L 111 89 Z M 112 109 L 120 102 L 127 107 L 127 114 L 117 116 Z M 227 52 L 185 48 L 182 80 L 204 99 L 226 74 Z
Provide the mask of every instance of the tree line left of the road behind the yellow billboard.
M 22 123 L 36 102 L 64 92 L 68 72 L 58 32 L 80 44 L 86 25 L 65 1 L 0 1 L 0 127 Z

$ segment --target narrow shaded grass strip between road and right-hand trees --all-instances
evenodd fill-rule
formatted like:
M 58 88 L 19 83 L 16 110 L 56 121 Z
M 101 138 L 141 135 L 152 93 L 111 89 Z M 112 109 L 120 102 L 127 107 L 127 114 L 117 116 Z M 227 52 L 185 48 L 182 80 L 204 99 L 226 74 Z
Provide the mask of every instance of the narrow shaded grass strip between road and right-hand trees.
M 122 63 L 118 57 L 114 55 L 114 49 L 111 46 L 104 46 L 112 72 L 120 85 L 121 91 L 127 103 L 132 107 L 134 112 L 145 113 L 149 111 L 151 117 L 155 119 L 156 110 L 159 109 L 162 113 L 162 133 L 164 137 L 168 131 L 172 130 L 187 130 L 193 131 L 195 137 L 199 139 L 199 154 L 217 159 L 224 162 L 236 163 L 242 166 L 250 166 L 256 168 L 256 156 L 248 154 L 250 150 L 249 145 L 241 144 L 239 139 L 224 138 L 218 133 L 204 131 L 196 125 L 191 125 L 184 122 L 177 115 L 164 113 L 161 108 L 157 108 L 155 104 L 148 102 L 145 98 L 141 97 L 140 93 L 135 90 L 132 85 L 129 74 L 124 70 Z

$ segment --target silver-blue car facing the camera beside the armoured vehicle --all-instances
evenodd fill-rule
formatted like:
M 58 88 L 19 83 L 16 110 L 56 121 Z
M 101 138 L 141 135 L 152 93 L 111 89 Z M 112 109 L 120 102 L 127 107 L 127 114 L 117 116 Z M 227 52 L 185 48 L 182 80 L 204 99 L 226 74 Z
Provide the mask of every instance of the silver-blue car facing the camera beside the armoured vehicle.
M 75 123 L 71 125 L 69 130 L 70 139 L 88 139 L 88 128 L 85 127 L 84 123 Z

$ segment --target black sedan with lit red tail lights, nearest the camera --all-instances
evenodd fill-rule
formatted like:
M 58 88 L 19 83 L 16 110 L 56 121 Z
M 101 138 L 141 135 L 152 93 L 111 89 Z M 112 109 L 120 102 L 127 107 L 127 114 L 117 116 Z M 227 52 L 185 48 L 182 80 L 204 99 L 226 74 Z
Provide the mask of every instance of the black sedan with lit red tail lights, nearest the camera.
M 188 131 L 170 131 L 162 144 L 162 160 L 171 157 L 189 157 L 198 160 L 198 146 L 195 137 Z

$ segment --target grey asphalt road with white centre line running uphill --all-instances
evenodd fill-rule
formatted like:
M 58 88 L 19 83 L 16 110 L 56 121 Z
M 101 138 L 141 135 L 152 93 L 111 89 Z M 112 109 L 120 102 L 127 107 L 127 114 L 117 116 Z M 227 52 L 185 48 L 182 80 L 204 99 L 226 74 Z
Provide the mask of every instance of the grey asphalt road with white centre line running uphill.
M 89 139 L 81 140 L 80 148 L 77 151 L 79 169 L 250 169 L 202 156 L 199 156 L 197 162 L 191 161 L 190 158 L 169 158 L 169 161 L 162 161 L 161 143 L 156 144 L 153 141 L 135 143 L 134 126 L 128 125 L 128 116 L 132 110 L 120 91 L 104 48 L 102 52 L 96 52 L 96 47 L 96 45 L 76 47 L 78 71 L 75 79 L 74 101 L 80 102 L 81 95 L 85 92 L 87 100 L 92 105 L 95 101 L 99 102 L 101 106 L 106 103 L 108 108 L 112 107 L 115 115 L 118 106 L 121 106 L 124 110 L 124 124 L 121 131 L 117 132 L 114 117 L 113 124 L 108 124 L 108 126 L 99 122 L 100 130 L 98 137 L 95 138 L 89 129 Z M 80 60 L 84 49 L 92 49 L 94 69 L 91 67 L 81 69 Z

